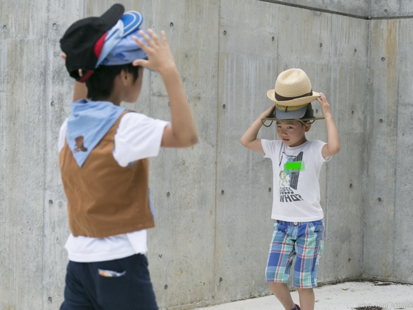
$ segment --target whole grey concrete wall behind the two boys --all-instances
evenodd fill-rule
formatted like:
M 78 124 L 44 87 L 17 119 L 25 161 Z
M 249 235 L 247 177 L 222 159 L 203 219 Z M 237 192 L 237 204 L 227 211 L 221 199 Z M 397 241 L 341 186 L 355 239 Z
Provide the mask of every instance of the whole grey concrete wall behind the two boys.
M 1 310 L 56 309 L 63 300 L 69 230 L 56 143 L 72 81 L 59 39 L 76 19 L 115 2 L 0 2 Z M 412 122 L 404 110 L 412 106 L 410 20 L 317 12 L 325 1 L 273 2 L 122 1 L 143 13 L 145 28 L 167 32 L 200 136 L 192 149 L 162 149 L 151 159 L 157 227 L 149 231 L 148 256 L 160 307 L 269 292 L 271 162 L 239 140 L 271 104 L 266 91 L 287 68 L 303 68 L 313 89 L 328 96 L 341 138 L 341 152 L 321 171 L 326 243 L 319 281 L 362 273 L 412 281 L 403 221 L 412 216 Z M 366 14 L 370 3 L 334 6 Z M 160 76 L 145 72 L 144 80 L 132 108 L 169 119 Z M 260 137 L 275 137 L 275 126 Z M 324 121 L 308 138 L 326 141 Z

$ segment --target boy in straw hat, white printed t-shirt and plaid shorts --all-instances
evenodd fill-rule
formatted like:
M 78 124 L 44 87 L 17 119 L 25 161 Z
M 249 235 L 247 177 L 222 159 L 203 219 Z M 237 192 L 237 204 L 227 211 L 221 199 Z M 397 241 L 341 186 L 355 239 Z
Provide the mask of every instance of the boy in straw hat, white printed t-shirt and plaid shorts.
M 267 93 L 274 105 L 258 117 L 241 138 L 248 149 L 273 162 L 273 211 L 276 222 L 268 254 L 266 282 L 285 309 L 313 310 L 317 269 L 323 251 L 323 209 L 319 203 L 319 172 L 324 162 L 340 149 L 339 134 L 326 96 L 313 92 L 303 70 L 290 69 L 277 77 Z M 321 105 L 324 117 L 314 116 L 311 102 Z M 311 123 L 326 119 L 327 143 L 308 141 Z M 276 121 L 279 140 L 258 139 L 265 121 Z M 268 127 L 268 126 L 267 126 Z M 290 267 L 295 260 L 293 285 L 299 293 L 295 304 L 288 289 Z

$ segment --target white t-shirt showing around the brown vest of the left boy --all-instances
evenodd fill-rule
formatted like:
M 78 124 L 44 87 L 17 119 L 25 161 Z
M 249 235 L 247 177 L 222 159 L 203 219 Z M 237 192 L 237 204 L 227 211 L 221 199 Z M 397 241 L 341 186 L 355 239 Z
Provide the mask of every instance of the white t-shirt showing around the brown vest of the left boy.
M 114 158 L 122 167 L 142 158 L 158 156 L 162 135 L 169 122 L 130 112 L 120 120 L 115 134 Z M 67 119 L 61 126 L 59 153 L 65 145 Z M 65 244 L 69 260 L 100 262 L 116 260 L 147 252 L 147 230 L 134 231 L 107 238 L 74 237 L 70 234 Z

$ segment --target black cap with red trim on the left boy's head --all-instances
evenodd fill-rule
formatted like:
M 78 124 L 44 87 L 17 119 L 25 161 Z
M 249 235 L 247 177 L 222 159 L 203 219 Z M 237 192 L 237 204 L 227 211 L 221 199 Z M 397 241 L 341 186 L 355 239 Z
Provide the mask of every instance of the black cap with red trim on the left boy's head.
M 123 12 L 123 5 L 116 3 L 101 17 L 81 19 L 66 30 L 60 43 L 66 54 L 66 68 L 70 76 L 84 82 L 92 75 L 105 43 L 107 30 L 117 23 Z M 83 76 L 79 76 L 79 69 L 83 70 Z

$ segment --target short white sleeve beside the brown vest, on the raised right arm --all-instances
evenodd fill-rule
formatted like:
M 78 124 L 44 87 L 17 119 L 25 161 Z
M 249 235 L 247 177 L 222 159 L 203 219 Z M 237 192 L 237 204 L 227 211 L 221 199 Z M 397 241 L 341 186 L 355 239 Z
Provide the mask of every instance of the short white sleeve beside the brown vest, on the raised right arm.
M 115 134 L 114 158 L 122 167 L 142 158 L 158 156 L 167 121 L 129 112 L 120 120 Z

